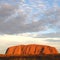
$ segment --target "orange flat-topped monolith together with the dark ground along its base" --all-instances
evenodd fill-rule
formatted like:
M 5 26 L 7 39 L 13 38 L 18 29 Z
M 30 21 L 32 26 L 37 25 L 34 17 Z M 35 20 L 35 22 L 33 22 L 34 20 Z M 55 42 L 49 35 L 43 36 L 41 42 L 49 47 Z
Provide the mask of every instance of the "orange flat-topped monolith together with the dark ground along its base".
M 0 54 L 1 60 L 60 60 L 60 54 L 55 47 L 29 44 L 8 47 L 5 54 Z

